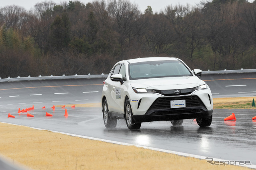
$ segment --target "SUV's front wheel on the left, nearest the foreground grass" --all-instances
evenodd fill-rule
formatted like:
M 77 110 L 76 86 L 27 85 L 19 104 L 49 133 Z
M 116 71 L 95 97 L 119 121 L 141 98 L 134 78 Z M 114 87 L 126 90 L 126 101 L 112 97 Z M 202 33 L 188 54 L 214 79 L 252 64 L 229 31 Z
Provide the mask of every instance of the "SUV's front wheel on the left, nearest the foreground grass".
M 125 110 L 124 110 L 124 118 L 126 121 L 126 125 L 130 130 L 138 130 L 141 127 L 141 123 L 136 123 L 133 119 L 132 107 L 129 99 L 125 102 Z

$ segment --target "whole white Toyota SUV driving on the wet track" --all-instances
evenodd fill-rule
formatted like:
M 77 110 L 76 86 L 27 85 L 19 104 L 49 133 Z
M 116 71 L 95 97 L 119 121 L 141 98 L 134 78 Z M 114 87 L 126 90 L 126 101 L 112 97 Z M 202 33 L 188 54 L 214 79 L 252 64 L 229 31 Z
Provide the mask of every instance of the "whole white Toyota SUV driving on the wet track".
M 212 123 L 212 93 L 197 76 L 202 71 L 178 58 L 148 57 L 119 61 L 104 81 L 102 112 L 106 128 L 125 119 L 129 129 L 142 122 L 196 119 L 200 127 Z

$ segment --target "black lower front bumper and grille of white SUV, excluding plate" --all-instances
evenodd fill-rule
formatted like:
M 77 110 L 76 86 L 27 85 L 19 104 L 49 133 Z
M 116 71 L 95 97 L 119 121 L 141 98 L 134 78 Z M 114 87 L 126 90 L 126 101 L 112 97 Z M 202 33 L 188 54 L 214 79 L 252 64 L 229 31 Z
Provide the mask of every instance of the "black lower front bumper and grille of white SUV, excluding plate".
M 172 100 L 185 100 L 186 107 L 173 109 L 170 107 Z M 144 115 L 134 114 L 133 118 L 136 122 L 152 122 L 209 117 L 212 116 L 213 110 L 207 109 L 204 104 L 207 102 L 210 103 L 210 99 L 203 102 L 197 95 L 158 97 Z

